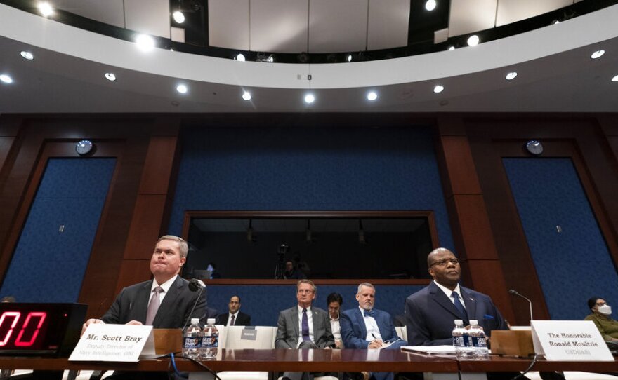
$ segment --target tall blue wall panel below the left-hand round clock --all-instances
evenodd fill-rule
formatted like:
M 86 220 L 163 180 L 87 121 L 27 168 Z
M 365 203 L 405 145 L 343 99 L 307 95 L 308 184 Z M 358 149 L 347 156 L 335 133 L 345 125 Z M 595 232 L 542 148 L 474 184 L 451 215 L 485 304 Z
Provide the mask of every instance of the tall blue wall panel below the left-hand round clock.
M 77 301 L 115 164 L 48 161 L 0 294 L 20 302 Z

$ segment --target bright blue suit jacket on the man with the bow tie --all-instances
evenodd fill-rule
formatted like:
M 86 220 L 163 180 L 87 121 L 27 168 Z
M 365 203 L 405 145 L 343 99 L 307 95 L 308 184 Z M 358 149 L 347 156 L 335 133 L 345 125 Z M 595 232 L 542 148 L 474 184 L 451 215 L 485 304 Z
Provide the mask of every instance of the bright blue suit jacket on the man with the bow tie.
M 397 339 L 397 332 L 390 319 L 390 314 L 375 308 L 374 312 L 374 319 L 380 330 L 382 340 L 389 341 L 391 339 Z M 369 341 L 366 340 L 367 327 L 364 325 L 364 318 L 360 312 L 360 308 L 355 307 L 343 311 L 339 324 L 341 325 L 341 339 L 343 339 L 344 347 L 367 348 L 367 346 L 369 346 Z

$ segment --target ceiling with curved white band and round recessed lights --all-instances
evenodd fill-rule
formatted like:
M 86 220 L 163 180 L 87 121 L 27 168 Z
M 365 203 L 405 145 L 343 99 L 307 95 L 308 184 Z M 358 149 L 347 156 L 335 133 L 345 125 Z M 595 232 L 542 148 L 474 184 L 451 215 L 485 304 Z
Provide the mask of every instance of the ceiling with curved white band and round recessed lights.
M 135 6 L 136 1 L 124 3 Z M 363 43 L 400 44 L 400 34 L 374 38 L 368 32 L 367 18 L 372 14 L 373 1 L 365 0 L 367 7 L 354 16 L 365 19 L 360 31 L 364 31 L 364 42 L 360 39 L 354 43 L 361 47 Z M 86 2 L 100 4 L 95 0 Z M 505 14 L 513 20 L 520 17 L 515 11 L 500 11 L 500 4 L 513 5 L 513 1 L 480 2 L 495 4 L 494 25 L 504 22 Z M 162 8 L 171 30 L 169 6 Z M 126 8 L 122 11 L 125 26 L 131 20 L 147 23 L 128 17 Z M 328 8 L 322 13 L 328 14 Z M 272 14 L 276 17 L 276 12 Z M 454 15 L 447 35 L 475 28 L 466 29 L 465 22 L 454 20 Z M 310 20 L 305 21 L 305 32 L 311 36 L 312 25 L 320 23 Z M 130 41 L 0 4 L 0 74 L 13 78 L 13 83 L 0 83 L 0 113 L 615 112 L 618 82 L 611 81 L 618 75 L 615 20 L 618 6 L 610 6 L 558 25 L 474 47 L 391 60 L 312 65 L 237 62 L 161 48 L 143 53 Z M 327 29 L 324 25 L 328 23 L 324 22 L 320 29 Z M 253 27 L 251 30 L 258 33 Z M 308 50 L 315 47 L 316 51 L 327 51 L 346 48 L 346 41 L 352 41 L 359 32 L 342 39 L 329 38 L 343 36 L 333 31 L 313 35 L 315 39 L 303 37 L 299 41 L 308 43 Z M 244 33 L 238 36 L 245 39 Z M 276 46 L 288 41 L 282 36 L 287 34 L 277 34 L 276 38 L 249 34 L 247 38 L 253 44 L 271 43 L 275 51 Z M 329 41 L 332 46 L 324 47 Z M 591 54 L 599 49 L 604 49 L 605 55 L 592 60 Z M 34 60 L 22 59 L 22 50 L 33 53 Z M 114 72 L 117 80 L 107 81 L 103 76 L 106 72 Z M 518 76 L 506 81 L 508 72 L 518 72 Z M 176 92 L 179 83 L 188 87 L 188 93 Z M 433 92 L 437 84 L 444 86 L 442 93 Z M 370 90 L 377 95 L 372 102 L 367 100 Z M 251 93 L 251 100 L 242 99 L 245 91 Z M 307 93 L 315 96 L 313 104 L 303 102 Z

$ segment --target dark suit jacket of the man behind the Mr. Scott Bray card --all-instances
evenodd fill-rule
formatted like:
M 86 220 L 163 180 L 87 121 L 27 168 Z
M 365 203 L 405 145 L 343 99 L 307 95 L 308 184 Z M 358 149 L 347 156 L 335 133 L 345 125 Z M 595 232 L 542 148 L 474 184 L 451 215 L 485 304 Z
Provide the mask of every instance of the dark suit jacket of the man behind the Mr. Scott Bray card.
M 204 325 L 204 313 L 206 312 L 206 288 L 197 301 L 195 310 L 191 308 L 197 300 L 199 292 L 192 292 L 188 287 L 189 281 L 180 276 L 176 277 L 167 294 L 163 298 L 159 311 L 152 321 L 155 328 L 179 328 L 185 325 L 190 318 L 200 318 Z M 101 317 L 105 323 L 124 324 L 131 320 L 146 322 L 146 311 L 150 300 L 150 288 L 152 280 L 125 287 L 116 297 L 110 310 Z

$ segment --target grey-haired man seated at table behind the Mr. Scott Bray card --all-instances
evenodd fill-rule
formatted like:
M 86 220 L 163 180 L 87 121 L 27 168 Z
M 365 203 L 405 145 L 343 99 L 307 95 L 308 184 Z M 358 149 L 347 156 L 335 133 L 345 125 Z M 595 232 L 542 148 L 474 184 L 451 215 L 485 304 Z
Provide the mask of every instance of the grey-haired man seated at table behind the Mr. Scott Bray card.
M 82 332 L 91 323 L 152 325 L 155 328 L 181 328 L 190 318 L 204 318 L 206 288 L 199 292 L 189 289 L 189 281 L 178 273 L 187 260 L 188 245 L 178 236 L 159 238 L 150 259 L 150 271 L 155 277 L 121 290 L 110 310 L 100 319 L 89 319 Z M 194 304 L 195 309 L 193 308 Z M 202 324 L 203 324 L 202 319 Z M 165 372 L 116 372 L 107 379 L 167 379 Z

